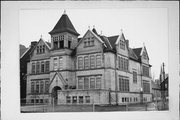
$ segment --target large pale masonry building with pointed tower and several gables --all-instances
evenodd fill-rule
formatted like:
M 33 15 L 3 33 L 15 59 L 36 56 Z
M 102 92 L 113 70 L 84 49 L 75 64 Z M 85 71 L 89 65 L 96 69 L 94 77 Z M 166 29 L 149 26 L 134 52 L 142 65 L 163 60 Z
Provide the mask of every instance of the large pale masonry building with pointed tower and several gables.
M 27 104 L 126 104 L 152 101 L 146 47 L 130 48 L 123 33 L 88 29 L 82 38 L 64 13 L 27 64 Z

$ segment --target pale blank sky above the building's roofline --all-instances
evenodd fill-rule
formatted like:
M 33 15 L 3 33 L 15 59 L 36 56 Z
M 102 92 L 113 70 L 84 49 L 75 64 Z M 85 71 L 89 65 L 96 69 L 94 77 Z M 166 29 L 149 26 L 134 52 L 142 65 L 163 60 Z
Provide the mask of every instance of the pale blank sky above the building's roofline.
M 50 32 L 64 9 L 20 10 L 20 44 L 29 47 L 42 35 L 50 42 Z M 76 31 L 82 37 L 89 26 L 105 36 L 119 35 L 121 29 L 131 48 L 146 46 L 151 74 L 159 78 L 160 67 L 165 63 L 168 73 L 168 15 L 166 8 L 123 9 L 66 9 Z

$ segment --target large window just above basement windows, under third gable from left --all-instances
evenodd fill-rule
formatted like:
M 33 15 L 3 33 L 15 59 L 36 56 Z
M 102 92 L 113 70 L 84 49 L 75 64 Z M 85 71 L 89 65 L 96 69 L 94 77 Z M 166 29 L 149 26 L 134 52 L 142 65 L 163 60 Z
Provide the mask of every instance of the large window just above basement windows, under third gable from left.
M 128 92 L 129 91 L 129 80 L 126 77 L 119 77 L 119 90 Z

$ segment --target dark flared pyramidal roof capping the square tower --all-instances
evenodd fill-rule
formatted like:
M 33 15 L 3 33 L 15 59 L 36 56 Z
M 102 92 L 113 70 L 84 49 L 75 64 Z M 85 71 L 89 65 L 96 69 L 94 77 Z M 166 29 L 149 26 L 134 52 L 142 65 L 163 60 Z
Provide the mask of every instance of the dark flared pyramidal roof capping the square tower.
M 63 14 L 59 21 L 56 23 L 53 30 L 49 32 L 49 34 L 55 34 L 60 32 L 70 32 L 74 35 L 79 35 L 79 33 L 74 28 L 73 24 L 71 23 L 69 17 L 66 14 Z

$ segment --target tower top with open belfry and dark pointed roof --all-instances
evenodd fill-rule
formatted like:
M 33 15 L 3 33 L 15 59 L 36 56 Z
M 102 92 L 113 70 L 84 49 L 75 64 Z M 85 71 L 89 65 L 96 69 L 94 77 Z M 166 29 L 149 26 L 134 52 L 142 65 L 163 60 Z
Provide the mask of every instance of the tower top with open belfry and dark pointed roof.
M 51 35 L 52 50 L 73 49 L 77 45 L 79 33 L 74 28 L 65 11 L 49 34 Z

